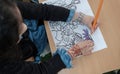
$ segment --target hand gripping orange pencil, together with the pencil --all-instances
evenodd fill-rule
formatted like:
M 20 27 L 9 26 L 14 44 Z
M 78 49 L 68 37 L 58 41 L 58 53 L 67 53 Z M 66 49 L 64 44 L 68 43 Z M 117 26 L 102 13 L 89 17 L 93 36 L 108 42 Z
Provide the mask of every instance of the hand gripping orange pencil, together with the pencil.
M 99 25 L 98 17 L 99 17 L 102 5 L 103 5 L 103 0 L 100 0 L 95 17 L 85 15 L 82 12 L 79 12 L 79 13 L 76 12 L 74 19 L 77 18 L 80 22 L 86 24 L 88 26 L 88 28 L 90 28 L 91 34 L 92 34 L 97 29 L 97 27 Z

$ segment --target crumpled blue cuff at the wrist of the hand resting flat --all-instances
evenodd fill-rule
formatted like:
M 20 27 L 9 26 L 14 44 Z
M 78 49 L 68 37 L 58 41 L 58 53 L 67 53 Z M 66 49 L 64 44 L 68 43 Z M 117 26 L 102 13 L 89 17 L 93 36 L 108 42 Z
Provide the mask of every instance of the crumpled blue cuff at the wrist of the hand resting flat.
M 60 58 L 62 59 L 63 63 L 66 65 L 67 68 L 72 67 L 72 58 L 65 49 L 59 48 L 57 49 L 55 54 L 60 55 Z

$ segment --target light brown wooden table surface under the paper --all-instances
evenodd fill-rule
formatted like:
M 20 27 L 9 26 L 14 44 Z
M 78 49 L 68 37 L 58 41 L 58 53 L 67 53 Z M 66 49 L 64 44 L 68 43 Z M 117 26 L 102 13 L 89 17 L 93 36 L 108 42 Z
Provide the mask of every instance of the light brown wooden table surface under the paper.
M 95 13 L 99 0 L 88 1 Z M 99 17 L 99 27 L 108 48 L 89 56 L 75 58 L 73 60 L 73 68 L 63 69 L 59 74 L 102 74 L 120 68 L 120 10 L 118 7 L 120 7 L 120 0 L 104 0 Z M 45 26 L 51 48 L 54 49 L 48 24 L 45 24 Z

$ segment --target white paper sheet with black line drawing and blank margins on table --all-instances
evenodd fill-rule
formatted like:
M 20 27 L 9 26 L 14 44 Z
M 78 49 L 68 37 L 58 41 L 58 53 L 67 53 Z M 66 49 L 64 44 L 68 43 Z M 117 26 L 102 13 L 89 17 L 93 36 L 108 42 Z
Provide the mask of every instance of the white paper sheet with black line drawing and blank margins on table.
M 75 9 L 77 12 L 83 12 L 87 15 L 94 16 L 87 0 L 47 0 L 43 3 L 62 6 L 68 9 Z M 94 41 L 95 45 L 93 52 L 107 48 L 99 28 L 91 36 L 89 28 L 77 20 L 71 22 L 49 21 L 48 24 L 56 48 L 69 49 L 78 41 L 83 41 L 86 38 Z

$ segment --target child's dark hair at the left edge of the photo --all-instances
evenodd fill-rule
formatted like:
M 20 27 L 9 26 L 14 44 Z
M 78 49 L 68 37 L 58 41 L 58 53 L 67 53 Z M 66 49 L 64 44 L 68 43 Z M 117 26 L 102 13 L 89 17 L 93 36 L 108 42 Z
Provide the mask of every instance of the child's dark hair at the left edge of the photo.
M 18 58 L 19 20 L 14 0 L 0 0 L 0 59 Z

